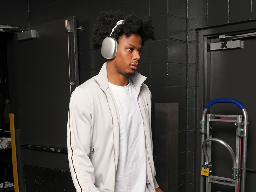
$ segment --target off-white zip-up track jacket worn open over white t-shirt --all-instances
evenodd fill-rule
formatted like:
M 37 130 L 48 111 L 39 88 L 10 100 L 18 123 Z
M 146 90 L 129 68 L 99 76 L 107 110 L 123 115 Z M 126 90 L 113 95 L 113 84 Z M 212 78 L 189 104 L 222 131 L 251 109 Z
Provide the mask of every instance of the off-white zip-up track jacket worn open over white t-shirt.
M 120 117 L 108 86 L 106 66 L 107 63 L 104 63 L 98 75 L 78 86 L 70 99 L 67 126 L 68 160 L 77 192 L 115 191 Z M 143 83 L 146 77 L 136 72 L 131 79 L 137 91 L 144 123 L 146 184 L 150 192 L 155 192 L 158 184 L 153 162 L 151 92 Z

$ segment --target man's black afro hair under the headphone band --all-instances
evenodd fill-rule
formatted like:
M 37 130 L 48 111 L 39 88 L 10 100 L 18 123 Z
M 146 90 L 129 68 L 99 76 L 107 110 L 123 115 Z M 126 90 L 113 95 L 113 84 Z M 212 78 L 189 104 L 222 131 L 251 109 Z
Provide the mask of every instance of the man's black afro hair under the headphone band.
M 119 10 L 103 11 L 100 12 L 92 32 L 92 45 L 94 49 L 101 47 L 104 38 L 109 37 L 111 30 L 119 20 L 124 20 L 124 24 L 118 25 L 111 35 L 117 42 L 119 36 L 123 34 L 130 36 L 133 33 L 141 36 L 142 45 L 149 39 L 155 39 L 155 28 L 151 17 L 138 18 L 134 13 L 124 17 L 123 13 Z

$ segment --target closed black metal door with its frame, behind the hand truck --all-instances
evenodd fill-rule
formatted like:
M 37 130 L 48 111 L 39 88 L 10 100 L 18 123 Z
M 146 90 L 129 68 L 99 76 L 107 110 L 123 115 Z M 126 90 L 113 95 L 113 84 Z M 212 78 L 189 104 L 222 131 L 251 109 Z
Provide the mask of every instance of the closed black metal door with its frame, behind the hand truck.
M 246 29 L 247 28 L 247 29 Z M 250 29 L 251 28 L 251 29 Z M 219 35 L 239 35 L 255 32 L 253 23 L 219 27 L 201 32 L 201 43 L 204 49 L 199 50 L 199 89 L 198 114 L 201 117 L 204 105 L 218 98 L 233 98 L 240 101 L 246 108 L 249 119 L 249 135 L 247 148 L 247 168 L 256 169 L 256 114 L 255 97 L 255 49 L 256 37 L 240 39 L 244 48 L 210 51 L 210 43 L 230 41 L 232 37 L 219 39 Z M 233 30 L 232 30 L 233 29 Z M 234 30 L 235 29 L 235 30 Z M 250 30 L 249 30 L 250 29 Z M 239 32 L 238 32 L 239 31 Z M 233 37 L 234 38 L 234 37 Z M 204 52 L 204 53 L 203 53 Z M 201 63 L 200 63 L 201 62 Z M 209 113 L 242 115 L 241 110 L 234 104 L 215 104 Z M 227 142 L 236 154 L 236 126 L 234 123 L 212 123 L 212 137 Z M 200 138 L 200 137 L 199 137 Z M 200 150 L 200 145 L 198 145 Z M 241 161 L 242 162 L 242 161 Z M 212 143 L 212 174 L 231 178 L 232 161 L 227 149 L 218 143 Z M 256 188 L 256 173 L 246 172 L 245 191 L 254 191 Z M 240 185 L 241 186 L 241 185 Z M 233 187 L 212 184 L 212 191 L 234 191 Z

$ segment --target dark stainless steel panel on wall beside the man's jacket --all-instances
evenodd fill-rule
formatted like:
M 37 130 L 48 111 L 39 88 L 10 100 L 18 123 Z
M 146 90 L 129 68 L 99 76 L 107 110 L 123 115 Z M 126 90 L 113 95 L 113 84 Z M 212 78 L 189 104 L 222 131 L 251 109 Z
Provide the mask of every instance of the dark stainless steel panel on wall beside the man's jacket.
M 178 103 L 155 103 L 156 180 L 163 191 L 178 191 Z M 186 166 L 186 165 L 185 165 Z

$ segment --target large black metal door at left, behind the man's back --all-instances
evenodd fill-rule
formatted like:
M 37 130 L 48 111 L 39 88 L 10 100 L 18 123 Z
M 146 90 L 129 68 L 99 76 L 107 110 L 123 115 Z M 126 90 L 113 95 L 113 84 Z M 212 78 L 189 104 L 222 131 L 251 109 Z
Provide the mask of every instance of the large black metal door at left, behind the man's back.
M 66 172 L 66 124 L 70 94 L 78 85 L 76 17 L 26 29 L 36 30 L 36 38 L 18 41 L 14 36 L 18 109 L 14 115 L 18 116 L 18 162 L 22 162 L 25 188 L 73 191 L 70 173 Z M 21 175 L 19 171 L 19 182 Z M 59 176 L 51 181 L 47 175 Z

